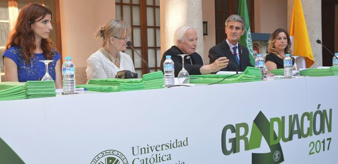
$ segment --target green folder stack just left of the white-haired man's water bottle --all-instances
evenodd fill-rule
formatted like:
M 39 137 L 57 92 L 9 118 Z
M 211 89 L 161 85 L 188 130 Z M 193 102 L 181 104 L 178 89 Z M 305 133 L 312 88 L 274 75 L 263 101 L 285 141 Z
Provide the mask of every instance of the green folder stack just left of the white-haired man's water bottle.
M 145 74 L 142 79 L 144 84 L 146 85 L 146 89 L 157 89 L 164 88 L 165 80 L 162 71 L 158 71 L 155 73 Z

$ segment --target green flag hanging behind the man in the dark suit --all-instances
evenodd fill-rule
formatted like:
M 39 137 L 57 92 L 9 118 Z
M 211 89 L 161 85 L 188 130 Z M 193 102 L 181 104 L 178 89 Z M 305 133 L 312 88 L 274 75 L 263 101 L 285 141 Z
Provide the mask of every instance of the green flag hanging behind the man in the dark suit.
M 247 0 L 240 0 L 238 4 L 238 14 L 244 18 L 247 24 L 245 27 L 245 33 L 240 38 L 240 43 L 244 47 L 247 47 L 247 49 L 249 50 L 250 62 L 254 66 L 254 47 L 253 47 L 253 40 L 251 39 L 250 19 L 249 19 Z

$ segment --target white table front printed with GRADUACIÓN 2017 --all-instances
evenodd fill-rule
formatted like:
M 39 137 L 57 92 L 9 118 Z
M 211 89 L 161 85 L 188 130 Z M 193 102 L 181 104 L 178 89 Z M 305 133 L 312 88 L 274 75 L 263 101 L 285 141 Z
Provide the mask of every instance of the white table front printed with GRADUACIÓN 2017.
M 0 101 L 0 164 L 333 164 L 337 83 L 334 76 Z

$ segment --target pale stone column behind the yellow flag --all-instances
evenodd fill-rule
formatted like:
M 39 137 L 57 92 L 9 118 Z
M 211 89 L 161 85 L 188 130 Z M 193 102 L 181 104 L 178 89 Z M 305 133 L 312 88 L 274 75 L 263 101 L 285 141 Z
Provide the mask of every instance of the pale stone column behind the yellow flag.
M 287 26 L 290 30 L 292 7 L 294 0 L 288 0 L 287 4 Z M 322 40 L 322 0 L 301 0 L 306 27 L 310 38 L 311 48 L 315 63 L 311 68 L 323 66 L 322 46 L 316 42 Z

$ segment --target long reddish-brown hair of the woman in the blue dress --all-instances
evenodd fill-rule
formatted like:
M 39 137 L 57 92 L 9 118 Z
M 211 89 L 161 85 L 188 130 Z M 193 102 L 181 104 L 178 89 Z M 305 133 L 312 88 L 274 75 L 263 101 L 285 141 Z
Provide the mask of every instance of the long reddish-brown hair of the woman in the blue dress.
M 41 17 L 38 20 L 40 21 L 47 14 L 52 16 L 51 10 L 40 4 L 27 4 L 23 6 L 17 17 L 15 27 L 9 35 L 6 50 L 13 46 L 20 47 L 26 62 L 30 63 L 30 58 L 34 57 L 34 50 L 36 49 L 34 31 L 31 25 L 36 19 Z M 41 49 L 48 60 L 52 60 L 54 57 L 52 48 L 54 47 L 50 38 L 41 39 Z

